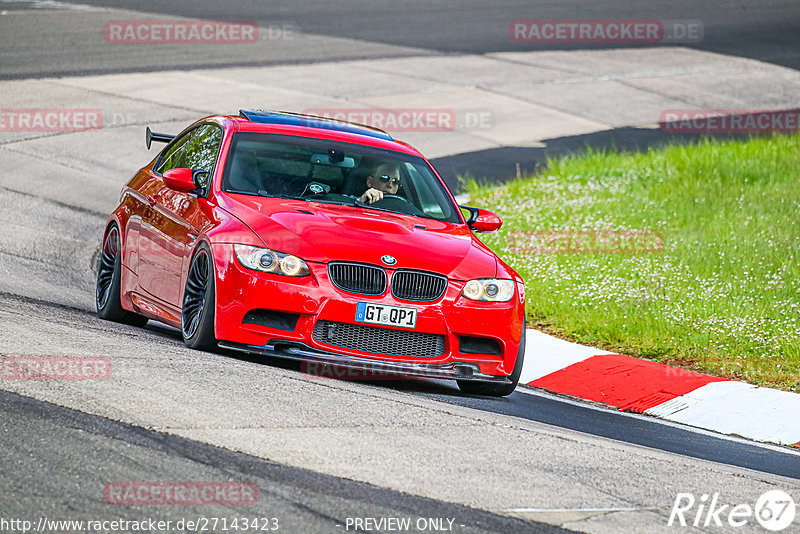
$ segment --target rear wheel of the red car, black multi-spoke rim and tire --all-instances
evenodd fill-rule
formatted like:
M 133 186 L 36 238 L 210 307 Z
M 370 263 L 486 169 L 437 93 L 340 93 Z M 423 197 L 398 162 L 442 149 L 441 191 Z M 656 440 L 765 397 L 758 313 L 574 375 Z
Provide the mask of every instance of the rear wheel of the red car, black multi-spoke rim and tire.
M 122 246 L 119 228 L 112 225 L 103 239 L 100 257 L 97 259 L 97 284 L 95 306 L 97 315 L 107 321 L 116 321 L 133 326 L 144 326 L 147 317 L 129 312 L 122 307 L 120 286 L 122 277 Z

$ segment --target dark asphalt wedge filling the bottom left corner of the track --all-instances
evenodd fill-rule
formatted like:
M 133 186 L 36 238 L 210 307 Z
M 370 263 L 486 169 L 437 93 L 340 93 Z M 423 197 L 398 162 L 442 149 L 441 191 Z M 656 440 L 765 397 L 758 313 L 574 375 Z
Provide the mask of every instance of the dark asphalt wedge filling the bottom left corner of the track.
M 54 503 L 50 519 L 81 510 L 86 517 L 105 517 L 107 505 L 97 496 L 94 480 L 102 470 L 114 480 L 138 480 L 159 473 L 166 480 L 245 478 L 258 484 L 258 503 L 248 517 L 277 518 L 280 530 L 335 532 L 347 517 L 458 518 L 463 532 L 564 532 L 466 506 L 443 503 L 368 484 L 287 467 L 248 455 L 218 449 L 175 436 L 132 427 L 85 413 L 0 391 L 4 419 L 0 428 L 13 434 L 12 453 L 3 465 L 24 469 L 14 487 L 14 502 L 4 501 L 3 516 L 28 517 L 42 502 Z M 42 436 L 58 435 L 58 440 Z M 99 451 L 91 461 L 73 453 Z M 82 461 L 83 460 L 83 461 Z M 67 467 L 68 469 L 59 469 Z M 147 466 L 143 469 L 142 466 Z M 56 467 L 57 476 L 53 476 Z M 4 488 L 4 493 L 8 488 Z M 144 515 L 136 507 L 120 507 L 116 516 L 130 521 Z M 43 510 L 44 511 L 44 510 Z M 235 506 L 184 508 L 187 518 L 236 517 Z M 154 520 L 174 520 L 171 513 L 147 514 Z M 271 522 L 270 522 L 271 524 Z M 467 527 L 469 525 L 469 527 Z

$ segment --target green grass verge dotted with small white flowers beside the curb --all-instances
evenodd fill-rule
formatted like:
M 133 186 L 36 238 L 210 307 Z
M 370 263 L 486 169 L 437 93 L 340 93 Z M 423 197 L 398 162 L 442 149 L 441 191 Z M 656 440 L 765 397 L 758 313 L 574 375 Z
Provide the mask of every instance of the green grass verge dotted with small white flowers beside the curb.
M 525 279 L 531 325 L 578 342 L 800 389 L 800 135 L 588 151 L 469 203 Z M 552 253 L 515 232 L 647 230 L 654 253 Z

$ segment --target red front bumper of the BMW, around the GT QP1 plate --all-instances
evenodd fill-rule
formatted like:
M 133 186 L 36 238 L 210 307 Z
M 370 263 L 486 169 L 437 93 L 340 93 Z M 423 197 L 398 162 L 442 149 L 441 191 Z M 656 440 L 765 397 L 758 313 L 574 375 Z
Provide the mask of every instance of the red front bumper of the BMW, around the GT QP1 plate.
M 514 369 L 524 322 L 521 287 L 509 302 L 476 302 L 461 296 L 465 282 L 450 280 L 439 300 L 409 302 L 396 299 L 389 290 L 379 296 L 341 291 L 330 280 L 326 264 L 309 262 L 310 276 L 292 278 L 243 267 L 229 244 L 214 245 L 213 252 L 217 275 L 215 334 L 225 348 L 348 368 L 367 365 L 376 370 L 380 364 L 387 366 L 387 372 L 458 380 L 502 382 Z M 385 269 L 391 278 L 391 269 Z M 356 306 L 363 301 L 416 308 L 413 332 L 443 336 L 443 353 L 420 357 L 365 352 L 315 338 L 314 327 L 319 321 L 363 326 L 355 321 Z M 256 309 L 293 314 L 296 324 L 276 329 L 244 322 L 245 315 Z M 493 354 L 462 352 L 463 336 L 493 340 L 499 350 Z

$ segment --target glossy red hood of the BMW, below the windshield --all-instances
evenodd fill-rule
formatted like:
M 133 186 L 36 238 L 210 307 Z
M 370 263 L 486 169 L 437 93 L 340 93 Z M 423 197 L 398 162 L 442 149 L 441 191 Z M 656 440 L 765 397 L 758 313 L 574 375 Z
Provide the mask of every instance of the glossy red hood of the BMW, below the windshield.
M 222 200 L 222 199 L 220 199 Z M 455 280 L 492 277 L 497 259 L 463 224 L 322 202 L 245 195 L 221 207 L 249 226 L 266 246 L 306 261 L 355 261 L 419 269 Z

